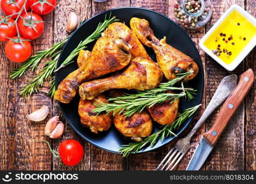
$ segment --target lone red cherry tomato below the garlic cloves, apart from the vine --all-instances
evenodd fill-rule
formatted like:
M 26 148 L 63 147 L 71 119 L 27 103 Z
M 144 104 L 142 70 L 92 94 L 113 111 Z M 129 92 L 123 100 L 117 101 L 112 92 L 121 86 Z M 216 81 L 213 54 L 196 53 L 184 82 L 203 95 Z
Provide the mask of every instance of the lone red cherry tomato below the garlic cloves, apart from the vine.
M 60 153 L 60 158 L 66 166 L 75 166 L 78 164 L 82 156 L 84 156 L 84 151 L 82 145 L 73 139 L 64 140 L 58 146 L 58 152 Z

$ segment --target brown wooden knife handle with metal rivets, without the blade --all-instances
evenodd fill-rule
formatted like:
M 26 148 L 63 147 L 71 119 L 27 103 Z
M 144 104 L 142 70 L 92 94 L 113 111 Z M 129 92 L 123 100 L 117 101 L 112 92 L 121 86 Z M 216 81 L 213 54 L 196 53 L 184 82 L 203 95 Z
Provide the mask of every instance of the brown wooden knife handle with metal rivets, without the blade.
M 254 80 L 255 77 L 252 69 L 248 69 L 246 72 L 241 74 L 238 85 L 236 88 L 234 88 L 228 99 L 226 99 L 225 103 L 222 105 L 214 125 L 212 125 L 209 131 L 203 135 L 209 141 L 209 143 L 212 144 L 212 146 L 216 144 L 222 135 L 222 132 L 228 125 L 230 118 L 233 116 L 234 112 L 252 87 Z

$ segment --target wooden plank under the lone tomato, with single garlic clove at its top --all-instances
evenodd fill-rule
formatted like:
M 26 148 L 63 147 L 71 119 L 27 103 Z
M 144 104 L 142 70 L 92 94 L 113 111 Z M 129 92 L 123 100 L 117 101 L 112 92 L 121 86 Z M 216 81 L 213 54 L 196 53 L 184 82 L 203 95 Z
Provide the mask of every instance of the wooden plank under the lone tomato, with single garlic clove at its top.
M 72 11 L 78 15 L 79 20 L 87 20 L 91 13 L 91 2 L 76 0 L 76 1 L 58 1 L 57 6 L 54 10 L 54 43 L 60 42 L 68 33 L 66 32 L 66 18 L 68 17 L 68 12 Z M 84 158 L 81 163 L 74 167 L 65 166 L 62 161 L 58 158 L 53 158 L 53 170 L 89 170 L 90 169 L 90 144 L 83 140 L 81 137 L 74 132 L 68 122 L 60 112 L 58 107 L 58 102 L 53 103 L 53 115 L 60 115 L 60 119 L 65 124 L 65 131 L 60 139 L 53 140 L 53 147 L 58 150 L 58 145 L 60 142 L 66 139 L 78 140 L 84 147 Z

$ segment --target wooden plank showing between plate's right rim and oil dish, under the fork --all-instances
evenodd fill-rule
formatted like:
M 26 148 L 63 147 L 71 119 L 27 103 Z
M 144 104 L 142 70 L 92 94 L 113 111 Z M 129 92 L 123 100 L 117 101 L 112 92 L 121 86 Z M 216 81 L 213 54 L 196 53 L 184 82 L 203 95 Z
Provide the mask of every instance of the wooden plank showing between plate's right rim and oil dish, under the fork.
M 172 18 L 172 20 L 175 20 L 174 17 L 174 4 L 175 1 L 169 0 L 169 18 Z M 205 26 L 203 28 L 200 29 L 185 29 L 185 31 L 190 35 L 191 39 L 193 40 L 194 44 L 196 44 L 196 47 L 199 50 L 199 54 L 201 56 L 202 59 L 202 65 L 204 67 L 204 79 L 205 79 L 205 83 L 206 83 L 206 53 L 204 53 L 204 51 L 199 48 L 199 40 L 204 36 L 205 34 Z M 194 118 L 194 121 L 191 123 L 191 126 L 186 129 L 186 131 L 183 133 L 183 136 L 186 136 L 186 134 L 188 134 L 188 132 L 191 131 L 191 129 L 193 128 L 193 126 L 196 124 L 197 120 L 199 120 L 199 118 L 201 117 L 202 113 L 204 112 L 204 110 L 206 109 L 206 86 L 204 87 L 204 93 L 202 94 L 202 102 L 201 102 L 202 106 L 198 112 L 198 115 Z M 188 163 L 190 161 L 190 158 L 193 155 L 193 152 L 196 148 L 196 145 L 199 142 L 199 139 L 201 138 L 202 133 L 204 133 L 206 131 L 206 126 L 205 124 L 203 124 L 201 126 L 201 128 L 198 130 L 198 132 L 196 132 L 196 134 L 193 136 L 192 140 L 191 140 L 191 148 L 188 151 L 188 153 L 186 153 L 186 155 L 184 156 L 184 158 L 182 159 L 182 161 L 180 161 L 180 164 L 178 164 L 176 170 L 185 170 L 186 166 L 188 166 Z M 182 136 L 180 136 L 182 137 Z M 172 147 L 172 144 L 174 143 L 170 143 L 169 148 Z M 202 169 L 204 169 L 204 167 L 202 167 Z

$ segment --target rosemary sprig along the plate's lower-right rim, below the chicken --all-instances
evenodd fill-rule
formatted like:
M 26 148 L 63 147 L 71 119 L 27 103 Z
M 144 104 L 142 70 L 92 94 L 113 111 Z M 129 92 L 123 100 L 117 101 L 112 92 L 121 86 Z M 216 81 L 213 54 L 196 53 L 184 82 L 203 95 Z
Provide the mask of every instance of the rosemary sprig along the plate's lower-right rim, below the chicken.
M 137 153 L 138 151 L 145 148 L 147 145 L 150 145 L 150 147 L 154 147 L 156 141 L 159 139 L 162 141 L 164 140 L 164 137 L 169 137 L 171 135 L 176 136 L 173 131 L 177 131 L 180 125 L 182 125 L 182 123 L 184 123 L 187 118 L 191 117 L 191 115 L 193 115 L 200 106 L 201 104 L 186 109 L 183 113 L 178 115 L 174 123 L 164 126 L 164 128 L 157 132 L 154 132 L 153 134 L 151 134 L 151 136 L 146 137 L 144 140 L 140 142 L 132 142 L 127 145 L 122 145 L 122 147 L 119 148 L 119 153 L 121 153 L 122 156 L 126 157 L 130 155 L 130 153 Z

